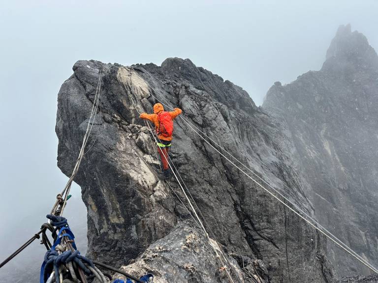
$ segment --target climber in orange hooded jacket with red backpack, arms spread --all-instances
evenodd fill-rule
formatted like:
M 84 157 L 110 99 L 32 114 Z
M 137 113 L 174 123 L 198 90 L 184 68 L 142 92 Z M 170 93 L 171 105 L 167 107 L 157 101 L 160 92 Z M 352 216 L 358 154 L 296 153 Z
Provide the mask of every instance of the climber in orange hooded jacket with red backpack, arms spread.
M 154 105 L 154 114 L 142 113 L 140 118 L 147 119 L 155 124 L 156 135 L 158 137 L 158 152 L 160 154 L 161 163 L 163 164 L 164 179 L 170 178 L 170 171 L 168 166 L 168 150 L 171 146 L 173 133 L 173 119 L 181 114 L 180 108 L 175 108 L 174 111 L 166 112 L 161 103 Z

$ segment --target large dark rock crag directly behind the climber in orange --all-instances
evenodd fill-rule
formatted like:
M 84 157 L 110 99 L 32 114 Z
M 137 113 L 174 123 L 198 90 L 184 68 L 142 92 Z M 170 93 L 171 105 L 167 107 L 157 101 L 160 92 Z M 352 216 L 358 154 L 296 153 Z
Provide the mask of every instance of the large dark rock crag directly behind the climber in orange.
M 76 62 L 58 95 L 58 166 L 65 174 L 71 173 L 81 146 L 99 70 L 100 109 L 75 179 L 88 208 L 91 257 L 119 266 L 148 247 L 137 262 L 164 243 L 167 251 L 183 246 L 189 228 L 182 222 L 191 216 L 175 194 L 188 203 L 176 182 L 169 182 L 171 190 L 159 180 L 156 148 L 138 118 L 138 112 L 152 112 L 156 98 L 183 109 L 185 119 L 314 215 L 311 188 L 300 174 L 289 129 L 257 108 L 241 87 L 189 59 L 168 58 L 160 67 Z M 326 240 L 214 151 L 181 117 L 175 120 L 170 155 L 212 238 L 235 258 L 239 270 L 244 267 L 241 282 L 258 273 L 261 282 L 332 281 Z M 177 283 L 219 282 L 221 266 L 214 261 L 202 268 L 192 263 L 196 271 L 189 280 L 183 265 L 188 252 L 174 251 L 157 255 L 146 270 L 161 274 L 161 282 L 168 282 L 163 277 L 175 268 Z M 206 265 L 214 256 L 207 251 L 198 250 Z

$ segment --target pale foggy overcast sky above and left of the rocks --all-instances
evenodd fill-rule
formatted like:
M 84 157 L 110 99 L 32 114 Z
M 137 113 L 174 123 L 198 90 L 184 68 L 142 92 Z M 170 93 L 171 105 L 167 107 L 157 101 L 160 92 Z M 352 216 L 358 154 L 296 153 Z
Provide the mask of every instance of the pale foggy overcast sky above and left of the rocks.
M 190 58 L 260 105 L 275 81 L 319 69 L 341 24 L 378 48 L 377 11 L 376 0 L 1 1 L 0 244 L 24 216 L 37 231 L 67 180 L 54 127 L 75 61 Z

